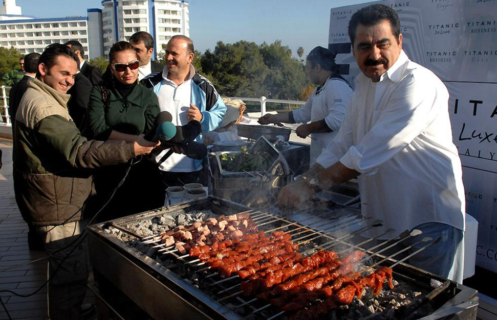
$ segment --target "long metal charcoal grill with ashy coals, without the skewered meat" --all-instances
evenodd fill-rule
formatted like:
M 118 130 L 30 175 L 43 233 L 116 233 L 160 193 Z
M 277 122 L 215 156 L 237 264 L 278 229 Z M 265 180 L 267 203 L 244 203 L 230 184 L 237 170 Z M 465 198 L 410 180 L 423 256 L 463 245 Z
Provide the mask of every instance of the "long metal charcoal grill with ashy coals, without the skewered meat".
M 91 226 L 92 289 L 99 310 L 114 310 L 122 319 L 285 319 L 289 313 L 241 294 L 241 279 L 222 279 L 202 262 L 165 248 L 151 236 L 160 231 L 162 223 L 177 223 L 185 216 L 195 219 L 199 211 L 213 216 L 248 212 L 260 231 L 291 233 L 304 255 L 317 249 L 341 254 L 361 250 L 368 254 L 359 266 L 361 271 L 379 265 L 393 268 L 394 290 L 386 288 L 375 299 L 355 299 L 350 306 L 330 312 L 329 318 L 476 319 L 475 290 L 383 255 L 385 248 L 411 236 L 407 232 L 397 235 L 383 230 L 381 221 L 364 218 L 356 209 L 329 204 L 280 212 L 274 207 L 251 210 L 213 197 Z M 365 237 L 371 230 L 379 230 L 391 240 Z M 425 245 L 433 241 L 437 239 L 424 239 Z M 106 318 L 105 312 L 99 318 Z

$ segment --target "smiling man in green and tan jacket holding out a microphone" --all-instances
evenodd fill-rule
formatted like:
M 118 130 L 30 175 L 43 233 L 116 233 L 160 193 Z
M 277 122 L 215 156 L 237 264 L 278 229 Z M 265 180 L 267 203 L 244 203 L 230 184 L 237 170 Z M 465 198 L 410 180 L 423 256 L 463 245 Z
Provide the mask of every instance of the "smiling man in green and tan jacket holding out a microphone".
M 126 163 L 156 146 L 137 142 L 88 141 L 69 115 L 67 90 L 77 57 L 52 44 L 39 58 L 37 79 L 19 103 L 14 131 L 14 191 L 19 210 L 45 238 L 49 256 L 51 320 L 81 318 L 88 280 L 84 228 L 87 200 L 94 194 L 91 169 Z

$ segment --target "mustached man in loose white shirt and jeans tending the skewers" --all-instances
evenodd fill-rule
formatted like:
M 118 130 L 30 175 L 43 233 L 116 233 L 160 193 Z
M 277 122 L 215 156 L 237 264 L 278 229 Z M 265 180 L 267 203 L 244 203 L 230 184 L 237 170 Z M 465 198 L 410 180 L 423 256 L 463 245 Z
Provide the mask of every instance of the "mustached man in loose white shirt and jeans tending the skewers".
M 365 216 L 398 233 L 416 228 L 420 237 L 442 236 L 408 262 L 462 282 L 465 198 L 448 91 L 402 51 L 390 7 L 357 11 L 349 36 L 362 74 L 340 131 L 305 178 L 282 189 L 279 204 L 299 206 L 316 190 L 358 177 Z

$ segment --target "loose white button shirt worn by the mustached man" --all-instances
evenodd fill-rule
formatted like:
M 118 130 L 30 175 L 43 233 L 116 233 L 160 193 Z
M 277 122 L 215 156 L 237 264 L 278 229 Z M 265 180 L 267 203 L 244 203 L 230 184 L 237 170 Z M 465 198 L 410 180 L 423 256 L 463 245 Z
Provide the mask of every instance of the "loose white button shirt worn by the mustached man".
M 428 222 L 465 228 L 461 161 L 452 143 L 449 94 L 402 51 L 379 82 L 356 78 L 338 135 L 317 162 L 361 175 L 362 213 L 397 232 Z

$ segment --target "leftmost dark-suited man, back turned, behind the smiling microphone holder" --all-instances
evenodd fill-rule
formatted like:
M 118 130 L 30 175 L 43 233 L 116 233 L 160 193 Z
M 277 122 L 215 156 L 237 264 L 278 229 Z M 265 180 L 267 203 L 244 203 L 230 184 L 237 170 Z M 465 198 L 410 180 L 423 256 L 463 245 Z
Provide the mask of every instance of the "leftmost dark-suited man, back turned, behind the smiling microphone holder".
M 34 79 L 38 70 L 38 59 L 40 54 L 30 53 L 23 58 L 24 77 L 14 84 L 9 92 L 9 115 L 12 123 L 12 132 L 14 132 L 15 112 L 23 98 L 24 92 L 28 89 L 28 80 Z M 20 63 L 20 62 L 19 62 Z

